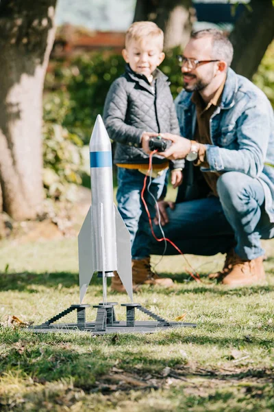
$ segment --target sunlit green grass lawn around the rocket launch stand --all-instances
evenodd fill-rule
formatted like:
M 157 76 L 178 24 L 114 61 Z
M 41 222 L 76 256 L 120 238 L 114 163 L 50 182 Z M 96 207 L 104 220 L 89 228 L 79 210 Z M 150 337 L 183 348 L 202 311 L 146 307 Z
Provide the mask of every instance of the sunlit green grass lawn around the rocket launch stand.
M 208 282 L 221 255 L 188 256 L 203 284 L 189 279 L 182 257 L 158 264 L 175 288 L 143 286 L 135 300 L 169 320 L 186 313 L 196 329 L 93 337 L 5 326 L 9 315 L 39 324 L 78 302 L 76 238 L 1 242 L 0 410 L 274 411 L 273 246 L 266 242 L 267 284 L 253 288 Z M 84 303 L 98 301 L 101 285 L 92 279 Z M 117 314 L 125 319 L 123 308 Z

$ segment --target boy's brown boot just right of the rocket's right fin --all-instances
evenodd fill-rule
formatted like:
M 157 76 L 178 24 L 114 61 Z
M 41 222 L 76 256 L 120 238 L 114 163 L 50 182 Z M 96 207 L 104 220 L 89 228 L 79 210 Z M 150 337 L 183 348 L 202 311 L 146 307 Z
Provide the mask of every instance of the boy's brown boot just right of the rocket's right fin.
M 150 258 L 132 259 L 132 280 L 134 284 L 149 284 L 171 288 L 173 280 L 169 277 L 159 277 L 151 271 Z

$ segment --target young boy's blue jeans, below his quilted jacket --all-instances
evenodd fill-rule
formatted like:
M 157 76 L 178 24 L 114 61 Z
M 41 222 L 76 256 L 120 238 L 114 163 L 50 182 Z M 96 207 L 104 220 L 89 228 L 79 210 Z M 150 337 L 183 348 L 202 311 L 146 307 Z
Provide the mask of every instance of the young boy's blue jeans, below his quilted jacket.
M 153 196 L 158 199 L 164 188 L 166 170 L 161 176 L 151 180 L 149 187 Z M 151 229 L 149 227 L 149 218 L 145 206 L 142 203 L 141 192 L 144 185 L 145 174 L 134 169 L 118 168 L 118 190 L 117 203 L 118 210 L 127 226 L 132 242 L 132 258 L 147 258 L 151 254 Z M 147 176 L 147 186 L 149 176 Z M 151 219 L 155 216 L 155 201 L 147 192 L 144 198 L 149 208 Z

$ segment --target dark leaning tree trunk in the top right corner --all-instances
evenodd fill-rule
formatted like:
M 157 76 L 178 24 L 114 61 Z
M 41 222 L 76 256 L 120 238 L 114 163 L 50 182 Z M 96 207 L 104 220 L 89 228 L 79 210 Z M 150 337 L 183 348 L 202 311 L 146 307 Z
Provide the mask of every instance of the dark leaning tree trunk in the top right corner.
M 242 13 L 230 40 L 234 45 L 232 69 L 251 79 L 274 38 L 274 6 L 272 0 L 251 0 L 249 4 L 251 10 Z

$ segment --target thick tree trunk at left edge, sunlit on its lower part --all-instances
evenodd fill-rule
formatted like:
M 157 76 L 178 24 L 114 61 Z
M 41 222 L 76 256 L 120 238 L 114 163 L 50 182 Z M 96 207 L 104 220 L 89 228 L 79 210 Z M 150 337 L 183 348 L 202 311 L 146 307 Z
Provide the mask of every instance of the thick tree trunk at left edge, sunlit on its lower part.
M 42 202 L 42 89 L 56 1 L 0 3 L 0 185 L 3 210 L 17 220 L 35 218 Z

